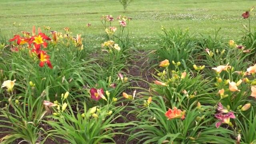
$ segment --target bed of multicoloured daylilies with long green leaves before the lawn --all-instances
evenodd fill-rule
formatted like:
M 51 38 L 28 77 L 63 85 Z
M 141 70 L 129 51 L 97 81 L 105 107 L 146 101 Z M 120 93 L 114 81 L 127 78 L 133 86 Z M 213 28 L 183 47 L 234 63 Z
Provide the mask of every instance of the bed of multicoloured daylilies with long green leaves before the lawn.
M 162 27 L 147 55 L 154 68 L 148 88 L 128 74 L 136 52 L 132 18 L 102 16 L 98 50 L 86 45 L 89 23 L 84 35 L 49 26 L 15 34 L 0 45 L 0 142 L 115 143 L 124 134 L 126 143 L 254 144 L 253 9 L 242 14 L 248 26 L 237 41 Z

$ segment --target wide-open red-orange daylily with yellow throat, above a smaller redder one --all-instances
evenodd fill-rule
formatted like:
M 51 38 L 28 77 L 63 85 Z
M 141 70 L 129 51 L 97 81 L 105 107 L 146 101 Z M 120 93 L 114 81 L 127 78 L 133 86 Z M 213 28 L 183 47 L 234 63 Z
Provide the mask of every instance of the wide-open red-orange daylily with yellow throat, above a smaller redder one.
M 36 47 L 37 50 L 40 49 L 41 44 L 44 46 L 44 48 L 47 47 L 47 42 L 45 42 L 44 40 L 52 40 L 51 38 L 49 38 L 48 36 L 46 36 L 44 33 L 39 33 L 36 36 L 32 36 L 30 38 L 30 41 L 28 42 L 28 44 L 34 44 L 34 46 Z

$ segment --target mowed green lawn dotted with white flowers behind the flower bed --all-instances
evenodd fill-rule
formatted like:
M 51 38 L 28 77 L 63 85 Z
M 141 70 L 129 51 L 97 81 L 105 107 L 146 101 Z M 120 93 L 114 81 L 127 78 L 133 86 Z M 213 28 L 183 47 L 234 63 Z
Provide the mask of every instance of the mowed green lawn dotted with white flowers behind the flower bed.
M 96 38 L 104 32 L 102 15 L 125 14 L 132 18 L 132 38 L 154 38 L 164 26 L 202 34 L 214 34 L 221 27 L 225 38 L 236 39 L 242 35 L 241 23 L 247 24 L 241 14 L 252 6 L 256 0 L 134 0 L 124 13 L 118 0 L 0 0 L 0 32 L 10 38 L 14 32 L 45 25 L 57 31 L 67 26 L 74 34 L 83 34 L 90 23 L 87 34 Z M 254 28 L 255 22 L 252 18 Z

